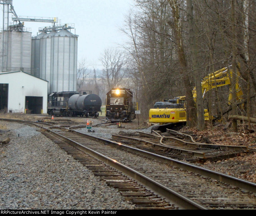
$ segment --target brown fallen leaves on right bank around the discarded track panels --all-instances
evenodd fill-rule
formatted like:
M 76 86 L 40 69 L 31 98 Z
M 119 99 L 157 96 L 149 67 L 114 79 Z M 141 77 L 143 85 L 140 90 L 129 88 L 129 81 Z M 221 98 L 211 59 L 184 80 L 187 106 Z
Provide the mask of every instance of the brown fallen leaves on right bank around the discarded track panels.
M 234 158 L 216 162 L 206 161 L 203 165 L 199 165 L 256 183 L 256 124 L 252 125 L 252 130 L 248 130 L 248 125 L 239 125 L 239 133 L 233 133 L 232 127 L 223 129 L 223 125 L 218 125 L 213 128 L 207 126 L 204 131 L 198 131 L 195 128 L 183 128 L 180 132 L 189 131 L 194 133 L 194 139 L 197 142 L 206 143 L 205 140 L 208 140 L 211 144 L 250 146 L 255 148 L 255 152 L 241 152 Z M 252 133 L 252 131 L 254 132 Z

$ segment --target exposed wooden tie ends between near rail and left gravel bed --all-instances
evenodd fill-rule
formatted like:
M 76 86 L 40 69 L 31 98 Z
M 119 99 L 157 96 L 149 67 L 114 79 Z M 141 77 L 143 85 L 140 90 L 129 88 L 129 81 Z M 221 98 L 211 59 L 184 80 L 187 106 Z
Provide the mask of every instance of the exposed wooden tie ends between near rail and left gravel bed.
M 85 153 L 79 148 L 69 145 L 62 139 L 53 136 L 47 132 L 43 134 L 57 143 L 68 154 L 71 154 L 74 159 L 78 160 L 92 172 L 95 176 L 100 176 L 102 181 L 110 187 L 117 188 L 125 200 L 129 200 L 136 205 L 136 209 L 176 209 L 165 199 L 154 194 L 145 186 L 138 184 L 132 178 L 127 177 L 120 171 L 113 169 L 106 163 L 94 158 L 92 155 Z M 95 143 L 94 143 L 95 144 Z

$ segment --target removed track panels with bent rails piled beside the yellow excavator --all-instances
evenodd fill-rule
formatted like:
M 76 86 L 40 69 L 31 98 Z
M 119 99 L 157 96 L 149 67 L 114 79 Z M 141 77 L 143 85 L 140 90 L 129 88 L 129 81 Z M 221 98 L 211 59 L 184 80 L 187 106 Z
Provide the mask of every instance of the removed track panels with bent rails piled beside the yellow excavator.
M 187 134 L 168 130 L 168 133 L 155 134 L 139 132 L 131 137 L 112 134 L 112 140 L 135 148 L 144 149 L 166 157 L 189 162 L 216 161 L 235 157 L 241 151 L 248 152 L 248 147 L 224 146 L 198 143 Z

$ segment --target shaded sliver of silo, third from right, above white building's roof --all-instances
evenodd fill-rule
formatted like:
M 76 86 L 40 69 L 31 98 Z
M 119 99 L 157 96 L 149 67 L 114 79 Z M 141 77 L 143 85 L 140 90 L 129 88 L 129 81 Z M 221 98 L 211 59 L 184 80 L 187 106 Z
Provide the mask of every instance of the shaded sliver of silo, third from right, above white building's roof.
M 32 37 L 31 46 L 31 74 L 40 78 L 40 38 L 47 35 L 46 32 L 38 34 L 36 37 Z

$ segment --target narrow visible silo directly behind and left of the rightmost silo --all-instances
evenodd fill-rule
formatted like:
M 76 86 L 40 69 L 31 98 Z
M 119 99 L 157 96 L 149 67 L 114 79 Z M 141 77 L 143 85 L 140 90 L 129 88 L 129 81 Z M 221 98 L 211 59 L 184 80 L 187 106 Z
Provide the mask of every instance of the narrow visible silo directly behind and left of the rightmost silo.
M 39 78 L 47 80 L 48 94 L 52 92 L 50 85 L 51 80 L 51 40 L 52 36 L 57 34 L 57 31 L 52 31 L 40 38 L 40 63 L 39 63 Z

